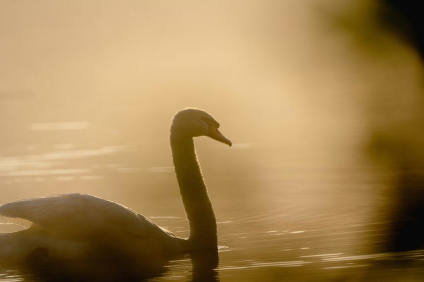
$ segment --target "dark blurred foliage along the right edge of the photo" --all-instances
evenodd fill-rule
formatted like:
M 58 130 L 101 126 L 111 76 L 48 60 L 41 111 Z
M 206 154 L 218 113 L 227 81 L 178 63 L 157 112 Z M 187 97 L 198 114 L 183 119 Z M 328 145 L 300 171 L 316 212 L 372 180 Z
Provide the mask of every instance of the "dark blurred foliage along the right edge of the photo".
M 389 157 L 395 167 L 394 200 L 397 202 L 393 221 L 389 226 L 389 252 L 402 252 L 424 248 L 424 19 L 419 2 L 385 0 L 380 10 L 383 26 L 393 30 L 421 56 L 422 67 L 418 113 L 394 132 L 372 132 L 371 144 L 377 154 Z M 401 98 L 404 93 L 398 93 Z M 413 111 L 412 109 L 410 111 Z M 391 113 L 387 112 L 387 120 Z M 405 113 L 405 116 L 411 113 Z

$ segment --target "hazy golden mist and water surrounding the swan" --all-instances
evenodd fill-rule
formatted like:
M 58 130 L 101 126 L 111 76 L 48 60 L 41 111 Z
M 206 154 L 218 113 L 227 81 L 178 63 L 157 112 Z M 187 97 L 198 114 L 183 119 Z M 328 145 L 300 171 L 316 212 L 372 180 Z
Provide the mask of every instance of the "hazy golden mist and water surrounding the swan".
M 233 142 L 195 140 L 219 265 L 151 281 L 419 281 L 396 234 L 423 204 L 422 61 L 381 7 L 1 1 L 0 204 L 88 193 L 187 237 L 169 125 L 198 107 Z

